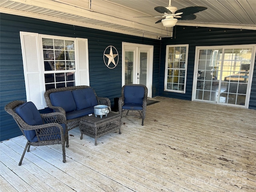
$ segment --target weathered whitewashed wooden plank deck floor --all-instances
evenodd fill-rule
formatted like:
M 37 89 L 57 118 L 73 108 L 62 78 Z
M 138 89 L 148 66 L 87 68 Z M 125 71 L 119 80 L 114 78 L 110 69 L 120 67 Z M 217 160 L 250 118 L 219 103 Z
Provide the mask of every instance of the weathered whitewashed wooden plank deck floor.
M 0 191 L 255 192 L 256 110 L 156 97 L 144 126 L 123 118 L 122 134 L 94 139 L 70 131 L 61 146 L 0 143 Z

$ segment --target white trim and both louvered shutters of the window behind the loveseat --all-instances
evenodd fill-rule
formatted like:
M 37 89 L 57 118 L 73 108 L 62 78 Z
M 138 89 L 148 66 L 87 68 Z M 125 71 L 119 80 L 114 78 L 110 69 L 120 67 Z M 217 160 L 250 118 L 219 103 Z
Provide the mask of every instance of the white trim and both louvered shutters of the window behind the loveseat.
M 76 61 L 75 85 L 90 86 L 88 39 L 52 36 L 20 31 L 26 99 L 27 101 L 33 102 L 38 110 L 47 107 L 44 100 L 45 80 L 44 58 L 42 58 L 42 38 L 74 40 Z

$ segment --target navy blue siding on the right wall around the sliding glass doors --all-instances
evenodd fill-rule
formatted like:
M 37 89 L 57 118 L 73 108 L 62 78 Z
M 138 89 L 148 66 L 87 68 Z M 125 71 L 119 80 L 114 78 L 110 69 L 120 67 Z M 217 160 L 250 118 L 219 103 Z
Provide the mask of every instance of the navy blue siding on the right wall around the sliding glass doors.
M 175 26 L 172 38 L 162 38 L 159 75 L 159 96 L 191 100 L 196 46 L 256 44 L 256 30 Z M 189 44 L 186 93 L 164 91 L 166 45 Z M 256 109 L 256 63 L 249 108 Z

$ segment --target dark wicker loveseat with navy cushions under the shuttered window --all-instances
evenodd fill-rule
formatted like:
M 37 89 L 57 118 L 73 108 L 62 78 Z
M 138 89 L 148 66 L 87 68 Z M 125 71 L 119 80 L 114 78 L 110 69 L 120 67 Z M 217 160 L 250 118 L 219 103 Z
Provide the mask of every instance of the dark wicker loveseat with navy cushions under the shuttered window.
M 46 104 L 55 112 L 65 114 L 68 131 L 79 126 L 80 120 L 94 113 L 94 106 L 111 107 L 109 98 L 98 97 L 90 86 L 71 86 L 47 90 Z

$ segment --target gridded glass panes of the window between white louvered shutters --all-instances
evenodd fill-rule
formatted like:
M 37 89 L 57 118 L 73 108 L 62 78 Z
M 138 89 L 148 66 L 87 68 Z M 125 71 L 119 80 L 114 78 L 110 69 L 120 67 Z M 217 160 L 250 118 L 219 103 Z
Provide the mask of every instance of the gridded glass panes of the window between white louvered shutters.
M 46 90 L 74 86 L 74 41 L 42 38 Z

